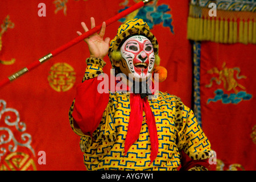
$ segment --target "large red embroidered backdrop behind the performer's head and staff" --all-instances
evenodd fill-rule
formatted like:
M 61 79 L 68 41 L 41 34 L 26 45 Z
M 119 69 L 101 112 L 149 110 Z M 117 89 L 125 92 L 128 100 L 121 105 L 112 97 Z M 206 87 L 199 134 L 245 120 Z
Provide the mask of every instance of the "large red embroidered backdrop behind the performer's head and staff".
M 76 38 L 76 31 L 82 31 L 80 22 L 90 27 L 90 17 L 94 16 L 99 24 L 135 2 L 138 1 L 1 1 L 0 79 Z M 38 16 L 39 3 L 46 5 L 46 16 Z M 168 71 L 160 90 L 179 96 L 191 107 L 191 45 L 186 38 L 188 1 L 155 1 L 131 16 L 146 17 L 143 13 L 152 18 L 148 21 L 159 42 L 160 65 Z M 109 26 L 105 36 L 114 38 L 121 21 Z M 2 170 L 85 169 L 80 138 L 69 126 L 68 111 L 76 85 L 84 76 L 88 56 L 86 44 L 79 43 L 0 88 Z M 104 70 L 109 74 L 108 57 L 105 61 L 108 64 Z M 38 163 L 39 151 L 46 152 L 46 164 Z

